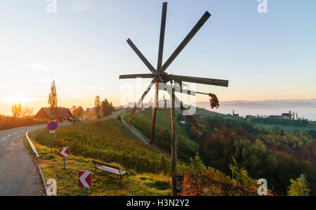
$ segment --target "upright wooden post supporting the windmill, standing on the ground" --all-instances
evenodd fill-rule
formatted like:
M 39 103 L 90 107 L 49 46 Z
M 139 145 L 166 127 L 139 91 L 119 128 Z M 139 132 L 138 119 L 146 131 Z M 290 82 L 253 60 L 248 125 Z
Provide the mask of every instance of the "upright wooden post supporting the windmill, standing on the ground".
M 177 176 L 177 150 L 178 150 L 178 138 L 176 130 L 176 119 L 175 119 L 175 101 L 176 95 L 174 89 L 172 89 L 171 96 L 171 195 L 175 196 L 177 193 L 176 176 Z

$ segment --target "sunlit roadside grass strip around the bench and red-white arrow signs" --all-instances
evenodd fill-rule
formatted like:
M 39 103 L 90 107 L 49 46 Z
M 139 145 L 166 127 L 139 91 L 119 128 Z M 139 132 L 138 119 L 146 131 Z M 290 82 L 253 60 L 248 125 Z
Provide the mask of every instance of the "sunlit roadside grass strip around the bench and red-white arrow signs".
M 91 158 L 72 155 L 66 157 L 66 169 L 63 169 L 63 159 L 59 156 L 57 148 L 53 149 L 53 157 L 51 148 L 41 145 L 34 141 L 35 137 L 46 133 L 44 130 L 33 131 L 29 133 L 34 146 L 37 148 L 39 158 L 37 164 L 41 166 L 46 181 L 54 178 L 57 181 L 58 196 L 84 196 L 86 191 L 78 186 L 78 173 L 80 170 L 94 171 Z M 25 144 L 31 154 L 32 149 L 29 147 L 25 138 Z M 70 150 L 71 152 L 71 150 Z M 110 164 L 119 166 L 124 169 L 121 164 L 111 162 Z M 88 189 L 88 195 L 126 195 L 126 196 L 168 196 L 171 195 L 170 178 L 164 173 L 138 173 L 130 169 L 129 181 L 124 177 L 121 182 L 119 176 L 110 175 L 97 171 L 100 175 L 93 176 L 92 188 Z

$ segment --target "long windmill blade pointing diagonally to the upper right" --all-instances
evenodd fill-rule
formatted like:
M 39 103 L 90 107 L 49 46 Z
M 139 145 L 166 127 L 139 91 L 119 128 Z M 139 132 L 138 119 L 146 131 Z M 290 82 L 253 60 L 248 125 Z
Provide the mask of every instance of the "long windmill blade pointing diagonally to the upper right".
M 159 72 L 163 73 L 164 71 L 166 71 L 166 69 L 169 67 L 169 65 L 171 65 L 173 60 L 175 60 L 177 58 L 177 56 L 180 54 L 180 52 L 183 51 L 185 46 L 187 46 L 187 44 L 191 41 L 191 39 L 195 36 L 195 34 L 197 34 L 197 32 L 199 31 L 199 29 L 201 29 L 201 27 L 204 25 L 204 23 L 207 20 L 209 20 L 209 17 L 211 17 L 211 14 L 208 11 L 206 11 L 206 13 L 204 13 L 202 18 L 199 19 L 199 21 L 197 22 L 195 27 L 193 27 L 193 29 L 190 31 L 190 33 L 187 34 L 187 37 L 185 37 L 185 39 L 181 42 L 181 44 L 178 46 L 178 48 L 176 48 L 176 51 L 174 51 L 172 53 L 172 55 L 170 56 L 170 58 L 166 61 L 166 63 L 164 63 L 164 65 L 162 66 L 162 69 L 159 70 Z

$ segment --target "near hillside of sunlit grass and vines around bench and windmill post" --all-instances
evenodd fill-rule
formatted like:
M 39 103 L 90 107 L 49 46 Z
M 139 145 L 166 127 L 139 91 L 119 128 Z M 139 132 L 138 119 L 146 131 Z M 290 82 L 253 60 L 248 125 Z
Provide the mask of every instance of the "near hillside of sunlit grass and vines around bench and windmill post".
M 161 127 L 164 129 L 164 126 Z M 58 183 L 58 195 L 84 195 L 84 189 L 77 187 L 78 171 L 94 171 L 92 159 L 120 166 L 121 169 L 129 168 L 130 181 L 119 182 L 119 178 L 103 173 L 93 178 L 90 195 L 171 194 L 169 157 L 137 140 L 117 119 L 97 119 L 60 127 L 55 136 L 53 157 L 50 157 L 51 136 L 46 129 L 33 131 L 29 136 L 39 152 L 37 164 L 44 176 L 46 179 L 55 178 Z M 183 137 L 184 143 L 185 140 L 188 140 L 187 136 Z M 56 148 L 65 146 L 70 147 L 71 156 L 66 158 L 67 169 L 62 169 L 62 158 Z M 194 146 L 197 147 L 197 144 Z M 202 195 L 256 195 L 256 181 L 248 176 L 241 187 L 235 178 L 207 168 L 198 156 L 192 157 L 195 158 L 187 164 L 178 164 L 179 173 L 185 176 L 183 195 L 195 195 L 200 191 Z M 195 182 L 190 182 L 192 178 L 211 179 L 215 183 L 208 181 L 204 190 L 192 191 L 195 187 Z M 230 186 L 230 190 L 225 188 L 226 185 Z

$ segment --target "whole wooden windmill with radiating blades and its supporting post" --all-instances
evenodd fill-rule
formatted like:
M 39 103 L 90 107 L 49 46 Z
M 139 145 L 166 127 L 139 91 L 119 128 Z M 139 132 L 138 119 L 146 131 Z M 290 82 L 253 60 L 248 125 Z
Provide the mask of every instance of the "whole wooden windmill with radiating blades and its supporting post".
M 197 22 L 195 27 L 190 31 L 189 34 L 187 34 L 187 37 L 181 42 L 181 44 L 176 48 L 176 50 L 171 54 L 170 58 L 166 60 L 164 65 L 162 65 L 162 57 L 163 57 L 163 51 L 164 51 L 164 34 L 166 29 L 166 11 L 167 11 L 167 3 L 164 2 L 162 6 L 162 25 L 160 29 L 160 40 L 159 40 L 159 52 L 158 52 L 158 64 L 157 69 L 155 69 L 150 62 L 145 58 L 145 56 L 140 53 L 138 48 L 133 44 L 131 39 L 127 40 L 127 43 L 133 51 L 138 55 L 140 60 L 143 61 L 143 63 L 147 66 L 147 68 L 150 70 L 151 74 L 128 74 L 128 75 L 120 75 L 119 79 L 136 79 L 136 78 L 152 78 L 152 81 L 150 82 L 150 85 L 147 87 L 145 92 L 143 93 L 143 96 L 140 98 L 136 106 L 133 108 L 131 115 L 129 116 L 129 121 L 133 117 L 133 115 L 136 113 L 136 110 L 140 105 L 142 105 L 143 99 L 147 95 L 147 93 L 150 91 L 152 86 L 155 84 L 155 95 L 154 95 L 154 107 L 152 110 L 152 127 L 150 132 L 150 143 L 154 143 L 154 127 L 156 123 L 156 114 L 157 114 L 157 107 L 159 104 L 158 100 L 158 93 L 159 93 L 159 83 L 164 84 L 164 88 L 160 88 L 160 90 L 166 91 L 166 86 L 168 82 L 171 83 L 170 88 L 167 88 L 169 91 L 169 95 L 171 96 L 171 126 L 172 126 L 172 135 L 171 135 L 171 185 L 172 185 L 172 194 L 176 194 L 176 161 L 177 161 L 177 148 L 178 148 L 178 141 L 177 141 L 177 135 L 176 135 L 176 123 L 175 123 L 175 105 L 176 103 L 180 105 L 180 110 L 182 112 L 185 111 L 185 106 L 182 102 L 176 97 L 175 92 L 178 93 L 187 93 L 192 96 L 195 96 L 195 94 L 204 94 L 210 96 L 213 100 L 211 100 L 211 107 L 218 107 L 218 100 L 215 95 L 211 93 L 201 93 L 196 91 L 190 91 L 185 90 L 183 91 L 183 81 L 184 82 L 191 82 L 196 84 L 208 84 L 213 86 L 224 86 L 228 87 L 228 80 L 222 80 L 222 79 L 208 79 L 208 78 L 200 78 L 200 77 L 185 77 L 180 75 L 173 75 L 173 74 L 167 74 L 166 69 L 171 65 L 173 60 L 176 59 L 176 57 L 180 54 L 181 51 L 183 51 L 183 48 L 187 46 L 187 44 L 190 42 L 190 40 L 197 34 L 199 29 L 204 25 L 204 23 L 211 17 L 211 14 L 206 11 L 202 18 Z M 176 85 L 172 85 L 172 84 Z M 212 104 L 212 103 L 216 104 Z M 202 134 L 202 130 L 199 128 L 199 125 L 197 122 L 195 122 L 195 119 L 193 119 L 190 115 L 185 115 L 187 120 L 192 124 L 192 126 L 196 129 L 197 133 L 199 135 Z

